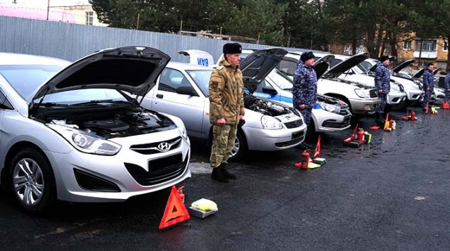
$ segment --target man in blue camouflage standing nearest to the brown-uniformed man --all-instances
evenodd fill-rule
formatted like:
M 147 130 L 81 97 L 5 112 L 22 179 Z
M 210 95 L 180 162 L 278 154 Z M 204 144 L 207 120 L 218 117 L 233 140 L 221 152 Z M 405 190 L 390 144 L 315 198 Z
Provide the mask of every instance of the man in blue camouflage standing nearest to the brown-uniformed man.
M 294 72 L 293 105 L 300 110 L 306 124 L 309 124 L 311 111 L 317 103 L 317 75 L 313 65 L 314 53 L 312 51 L 302 53 Z M 303 146 L 311 148 L 306 143 L 303 143 Z

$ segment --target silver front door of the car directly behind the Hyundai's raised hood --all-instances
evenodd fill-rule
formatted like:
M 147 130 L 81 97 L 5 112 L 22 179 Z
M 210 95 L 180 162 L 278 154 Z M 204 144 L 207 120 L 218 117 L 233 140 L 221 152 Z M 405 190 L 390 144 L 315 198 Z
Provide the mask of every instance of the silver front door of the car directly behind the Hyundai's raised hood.
M 162 70 L 157 89 L 153 91 L 151 108 L 181 118 L 190 136 L 201 137 L 205 96 L 191 83 L 191 77 L 180 70 Z M 180 87 L 191 88 L 192 95 L 179 94 Z

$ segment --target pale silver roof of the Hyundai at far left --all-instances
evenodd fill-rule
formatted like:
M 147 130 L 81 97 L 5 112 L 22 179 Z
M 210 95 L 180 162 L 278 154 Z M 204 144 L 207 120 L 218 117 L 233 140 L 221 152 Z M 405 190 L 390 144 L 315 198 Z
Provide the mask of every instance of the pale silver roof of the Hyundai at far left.
M 20 53 L 0 53 L 0 65 L 62 65 L 68 66 L 70 62 L 59 58 L 34 56 Z

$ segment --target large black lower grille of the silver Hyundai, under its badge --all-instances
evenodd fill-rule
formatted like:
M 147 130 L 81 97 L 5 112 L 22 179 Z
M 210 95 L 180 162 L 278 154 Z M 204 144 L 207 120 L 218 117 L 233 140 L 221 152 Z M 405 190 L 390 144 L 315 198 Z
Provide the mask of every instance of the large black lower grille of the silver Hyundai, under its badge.
M 188 155 L 187 155 L 188 156 Z M 152 186 L 176 178 L 188 167 L 188 157 L 182 161 L 182 155 L 172 155 L 148 161 L 149 171 L 130 163 L 124 163 L 129 174 L 142 186 Z

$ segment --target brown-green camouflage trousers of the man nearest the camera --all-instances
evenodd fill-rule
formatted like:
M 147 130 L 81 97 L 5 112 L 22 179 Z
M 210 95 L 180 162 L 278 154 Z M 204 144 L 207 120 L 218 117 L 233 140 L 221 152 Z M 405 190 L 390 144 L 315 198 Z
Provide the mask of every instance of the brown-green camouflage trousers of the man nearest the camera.
M 226 163 L 236 140 L 236 124 L 224 124 L 212 126 L 212 148 L 210 156 L 211 167 L 218 167 L 221 163 Z

